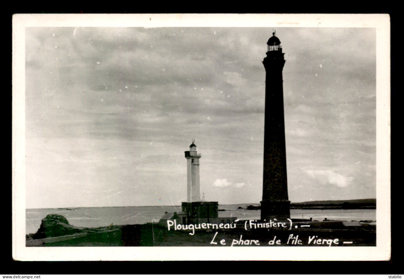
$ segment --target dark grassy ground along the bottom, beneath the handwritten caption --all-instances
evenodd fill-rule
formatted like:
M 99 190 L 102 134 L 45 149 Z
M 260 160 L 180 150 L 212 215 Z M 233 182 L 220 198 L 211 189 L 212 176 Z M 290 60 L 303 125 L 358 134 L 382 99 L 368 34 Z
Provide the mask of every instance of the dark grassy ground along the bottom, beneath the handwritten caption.
M 215 237 L 215 234 L 217 235 Z M 243 243 L 240 245 L 240 235 Z M 288 238 L 299 235 L 301 244 L 292 244 L 292 239 L 287 243 Z M 215 237 L 215 244 L 211 244 Z M 280 244 L 269 244 L 270 240 L 280 240 Z M 209 230 L 195 231 L 194 235 L 189 235 L 189 231 L 168 231 L 166 228 L 159 227 L 157 224 L 139 224 L 125 225 L 121 230 L 105 233 L 92 233 L 77 239 L 65 241 L 42 243 L 39 246 L 329 246 L 330 241 L 321 244 L 309 242 L 309 237 L 313 240 L 318 239 L 339 239 L 338 245 L 332 243 L 332 246 L 375 246 L 376 231 L 374 227 L 365 229 L 292 229 L 275 230 L 267 229 L 245 231 L 244 229 L 230 230 Z M 224 239 L 226 245 L 221 245 L 220 241 Z M 249 241 L 246 241 L 249 240 Z M 257 241 L 250 241 L 257 240 Z M 237 241 L 237 242 L 236 242 Z M 350 242 L 344 244 L 343 242 Z M 278 242 L 279 243 L 279 242 Z M 247 244 L 247 245 L 246 245 Z

